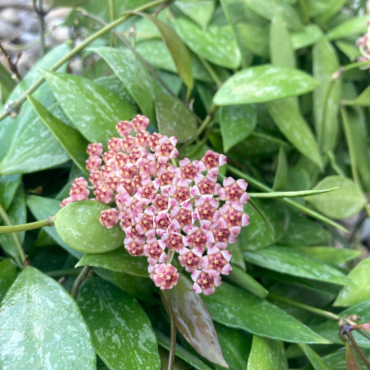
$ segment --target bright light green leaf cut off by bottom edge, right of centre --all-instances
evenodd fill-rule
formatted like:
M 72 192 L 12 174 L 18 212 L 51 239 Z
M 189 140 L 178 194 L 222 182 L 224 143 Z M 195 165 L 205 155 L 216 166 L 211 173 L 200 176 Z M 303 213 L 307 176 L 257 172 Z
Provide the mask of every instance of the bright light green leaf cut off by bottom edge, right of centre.
M 283 342 L 253 336 L 247 370 L 288 370 Z

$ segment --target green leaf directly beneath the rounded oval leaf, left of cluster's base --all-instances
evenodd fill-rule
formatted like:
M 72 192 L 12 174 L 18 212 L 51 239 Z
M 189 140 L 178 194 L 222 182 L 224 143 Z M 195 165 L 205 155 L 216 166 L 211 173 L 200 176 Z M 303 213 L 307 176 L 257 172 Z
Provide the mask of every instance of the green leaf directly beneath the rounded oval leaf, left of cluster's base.
M 132 256 L 124 247 L 121 247 L 106 253 L 86 253 L 76 264 L 76 267 L 103 267 L 112 271 L 149 278 L 147 265 L 146 257 Z

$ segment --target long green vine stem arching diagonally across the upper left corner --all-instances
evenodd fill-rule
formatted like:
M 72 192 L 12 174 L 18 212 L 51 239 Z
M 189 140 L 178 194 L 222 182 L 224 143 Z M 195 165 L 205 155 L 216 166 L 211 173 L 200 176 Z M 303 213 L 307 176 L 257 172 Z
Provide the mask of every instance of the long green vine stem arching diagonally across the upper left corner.
M 87 38 L 84 42 L 82 42 L 80 45 L 76 46 L 74 49 L 72 49 L 69 53 L 64 55 L 64 57 L 57 63 L 55 63 L 49 70 L 54 71 L 57 70 L 59 67 L 61 67 L 64 63 L 68 62 L 72 57 L 74 57 L 78 52 L 83 50 L 87 45 L 91 44 L 96 39 L 100 38 L 104 33 L 109 32 L 122 22 L 126 21 L 127 18 L 130 18 L 134 16 L 135 14 L 133 12 L 140 12 L 146 9 L 149 9 L 151 7 L 154 7 L 156 5 L 160 5 L 162 3 L 165 3 L 167 0 L 155 0 L 149 4 L 145 4 L 134 11 L 130 11 L 122 15 L 120 18 L 118 18 L 116 21 L 108 24 L 107 26 L 103 27 L 101 30 L 97 31 L 93 35 L 91 35 L 89 38 Z M 27 95 L 32 95 L 34 91 L 36 91 L 45 81 L 44 77 L 40 77 L 39 80 L 37 80 L 24 94 L 23 96 L 16 100 L 14 103 L 11 104 L 11 108 L 13 111 L 19 110 L 22 104 L 26 101 Z M 2 121 L 5 117 L 9 116 L 10 112 L 9 110 L 6 110 L 2 115 L 0 115 L 0 121 Z

